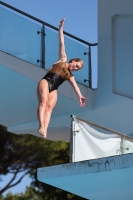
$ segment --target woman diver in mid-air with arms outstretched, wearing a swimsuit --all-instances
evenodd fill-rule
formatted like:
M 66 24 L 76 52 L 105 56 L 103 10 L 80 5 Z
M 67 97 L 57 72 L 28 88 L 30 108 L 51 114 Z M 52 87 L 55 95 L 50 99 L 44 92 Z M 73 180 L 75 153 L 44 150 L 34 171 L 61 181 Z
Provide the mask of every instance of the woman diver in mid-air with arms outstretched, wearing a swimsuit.
M 37 87 L 37 96 L 39 101 L 38 106 L 38 120 L 39 120 L 39 133 L 42 137 L 47 137 L 47 128 L 50 122 L 52 110 L 57 101 L 57 88 L 65 80 L 68 80 L 74 88 L 81 107 L 85 106 L 85 98 L 82 96 L 79 87 L 72 75 L 71 71 L 78 71 L 83 67 L 83 61 L 79 58 L 74 58 L 67 63 L 67 56 L 65 53 L 63 25 L 62 19 L 59 23 L 59 59 L 50 68 L 48 73 L 40 80 Z

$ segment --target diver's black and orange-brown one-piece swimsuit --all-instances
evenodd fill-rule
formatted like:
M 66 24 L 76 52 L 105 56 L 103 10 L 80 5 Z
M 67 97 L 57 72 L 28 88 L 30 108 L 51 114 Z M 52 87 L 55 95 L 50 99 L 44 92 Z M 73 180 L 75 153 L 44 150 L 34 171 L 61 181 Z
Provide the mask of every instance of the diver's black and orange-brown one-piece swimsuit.
M 66 62 L 59 62 L 54 64 L 42 79 L 47 80 L 49 92 L 52 92 L 72 76 L 72 73 L 66 67 Z

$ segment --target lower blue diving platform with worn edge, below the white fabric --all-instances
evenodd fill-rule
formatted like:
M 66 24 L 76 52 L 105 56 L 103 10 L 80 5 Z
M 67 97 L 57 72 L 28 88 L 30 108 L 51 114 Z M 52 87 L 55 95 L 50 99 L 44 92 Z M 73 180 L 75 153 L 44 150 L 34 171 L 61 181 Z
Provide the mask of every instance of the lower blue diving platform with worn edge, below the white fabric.
M 131 200 L 133 154 L 38 168 L 37 178 L 88 200 Z

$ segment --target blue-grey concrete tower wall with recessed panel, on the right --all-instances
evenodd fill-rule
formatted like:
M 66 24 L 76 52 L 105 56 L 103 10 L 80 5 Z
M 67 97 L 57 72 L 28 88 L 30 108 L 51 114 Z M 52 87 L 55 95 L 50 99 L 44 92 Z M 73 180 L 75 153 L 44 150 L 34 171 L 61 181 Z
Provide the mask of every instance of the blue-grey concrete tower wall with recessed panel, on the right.
M 119 20 L 116 20 L 116 15 Z M 126 23 L 121 23 L 121 16 Z M 98 0 L 98 88 L 94 95 L 95 106 L 93 111 L 78 115 L 124 134 L 133 133 L 132 16 L 133 0 Z M 132 23 L 132 28 L 127 23 Z

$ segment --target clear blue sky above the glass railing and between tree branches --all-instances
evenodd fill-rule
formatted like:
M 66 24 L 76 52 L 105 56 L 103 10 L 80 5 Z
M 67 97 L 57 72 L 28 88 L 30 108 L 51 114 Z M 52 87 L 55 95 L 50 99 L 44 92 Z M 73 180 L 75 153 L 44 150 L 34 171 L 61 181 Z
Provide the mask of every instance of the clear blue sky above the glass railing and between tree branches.
M 58 28 L 59 21 L 65 18 L 64 31 L 89 43 L 97 43 L 97 1 L 98 0 L 3 0 L 52 26 Z M 93 86 L 97 85 L 97 48 L 92 47 Z M 9 176 L 3 180 L 6 182 Z M 4 181 L 2 182 L 4 184 Z M 10 189 L 12 193 L 23 192 L 30 184 L 27 176 Z M 7 193 L 8 191 L 6 191 Z

